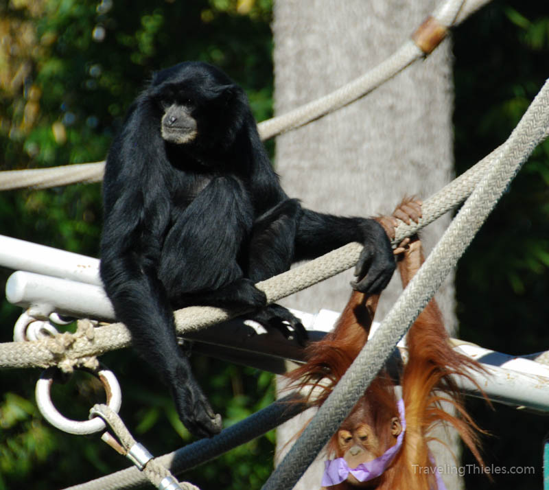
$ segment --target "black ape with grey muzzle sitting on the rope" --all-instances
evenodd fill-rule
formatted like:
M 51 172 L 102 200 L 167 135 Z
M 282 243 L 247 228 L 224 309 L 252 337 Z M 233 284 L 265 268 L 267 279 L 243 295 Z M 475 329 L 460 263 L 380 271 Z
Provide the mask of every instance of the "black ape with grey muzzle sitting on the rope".
M 374 220 L 315 213 L 286 196 L 244 91 L 205 63 L 155 73 L 130 106 L 108 154 L 104 208 L 108 297 L 199 436 L 219 432 L 221 419 L 178 348 L 173 308 L 246 305 L 250 318 L 289 322 L 299 336 L 303 327 L 266 307 L 255 282 L 349 242 L 364 244 L 359 290 L 382 290 L 395 268 Z

